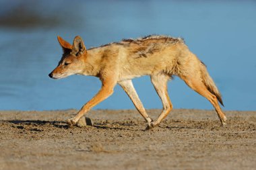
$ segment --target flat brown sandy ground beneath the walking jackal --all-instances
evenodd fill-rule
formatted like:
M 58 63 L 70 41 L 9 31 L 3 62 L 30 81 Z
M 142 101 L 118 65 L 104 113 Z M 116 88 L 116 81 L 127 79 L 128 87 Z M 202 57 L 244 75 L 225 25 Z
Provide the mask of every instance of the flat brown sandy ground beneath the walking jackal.
M 136 110 L 69 128 L 76 112 L 0 111 L 0 169 L 256 169 L 256 112 L 226 112 L 223 128 L 214 111 L 173 110 L 153 130 Z

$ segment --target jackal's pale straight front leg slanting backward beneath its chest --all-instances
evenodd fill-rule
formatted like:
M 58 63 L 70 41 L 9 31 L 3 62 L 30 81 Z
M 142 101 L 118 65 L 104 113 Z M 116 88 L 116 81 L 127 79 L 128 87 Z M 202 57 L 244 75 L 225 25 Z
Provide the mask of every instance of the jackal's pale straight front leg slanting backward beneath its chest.
M 141 103 L 139 96 L 137 95 L 133 87 L 133 82 L 131 80 L 120 81 L 119 85 L 127 93 L 131 101 L 133 101 L 133 104 L 135 105 L 135 108 L 137 109 L 139 114 L 141 114 L 141 116 L 146 120 L 148 125 L 150 125 L 150 123 L 152 122 L 152 119 L 148 116 L 145 108 L 143 107 L 143 104 Z

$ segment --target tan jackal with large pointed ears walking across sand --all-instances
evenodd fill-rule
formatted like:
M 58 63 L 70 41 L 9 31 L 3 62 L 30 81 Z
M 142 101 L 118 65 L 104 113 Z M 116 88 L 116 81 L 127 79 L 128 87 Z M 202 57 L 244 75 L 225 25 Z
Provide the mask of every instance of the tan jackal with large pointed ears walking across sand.
M 119 84 L 130 97 L 139 114 L 147 122 L 146 129 L 158 126 L 161 120 L 172 110 L 167 82 L 172 75 L 183 79 L 194 91 L 205 97 L 214 106 L 222 126 L 226 124 L 226 116 L 218 101 L 222 97 L 214 81 L 207 73 L 203 62 L 193 54 L 183 39 L 170 36 L 146 36 L 137 39 L 123 39 L 96 48 L 86 50 L 81 37 L 76 36 L 73 45 L 58 36 L 63 48 L 63 56 L 59 65 L 49 74 L 53 79 L 61 79 L 69 75 L 92 75 L 102 81 L 100 91 L 86 103 L 77 115 L 67 123 L 72 126 L 91 108 L 109 97 L 115 85 Z M 162 100 L 163 110 L 156 120 L 146 113 L 131 79 L 149 75 Z

